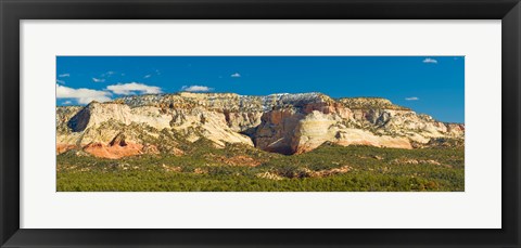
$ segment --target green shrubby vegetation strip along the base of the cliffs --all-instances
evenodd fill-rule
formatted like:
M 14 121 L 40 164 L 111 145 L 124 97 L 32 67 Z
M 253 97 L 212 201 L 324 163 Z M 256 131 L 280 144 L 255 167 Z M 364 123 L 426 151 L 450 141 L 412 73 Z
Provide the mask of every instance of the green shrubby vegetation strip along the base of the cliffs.
M 183 156 L 102 159 L 58 156 L 60 192 L 419 192 L 465 191 L 463 147 L 419 149 L 325 144 L 284 156 L 195 142 Z

